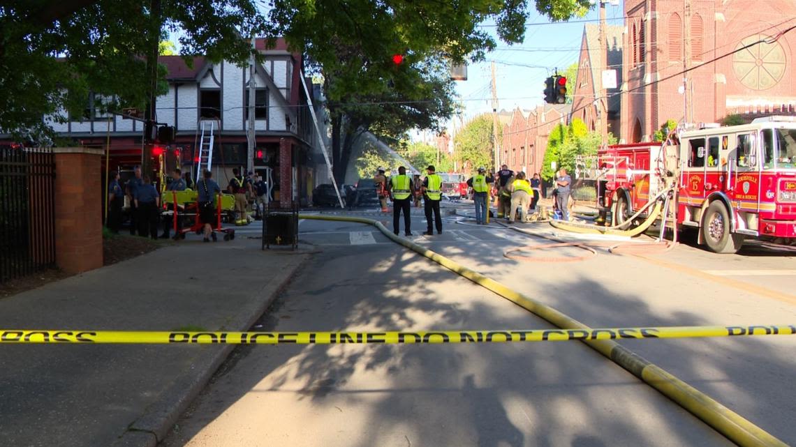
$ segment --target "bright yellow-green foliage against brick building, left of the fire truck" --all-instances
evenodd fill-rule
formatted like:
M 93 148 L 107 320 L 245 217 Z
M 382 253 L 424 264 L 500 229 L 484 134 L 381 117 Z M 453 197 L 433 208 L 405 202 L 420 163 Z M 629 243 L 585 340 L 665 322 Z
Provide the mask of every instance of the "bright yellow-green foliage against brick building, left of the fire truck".
M 569 126 L 557 125 L 548 137 L 540 176 L 544 180 L 551 180 L 561 168 L 567 169 L 568 173 L 574 173 L 576 157 L 597 154 L 601 141 L 599 133 L 589 132 L 586 123 L 581 119 L 573 119 Z M 608 142 L 614 144 L 616 138 L 609 134 Z M 556 162 L 555 170 L 551 167 L 552 161 Z

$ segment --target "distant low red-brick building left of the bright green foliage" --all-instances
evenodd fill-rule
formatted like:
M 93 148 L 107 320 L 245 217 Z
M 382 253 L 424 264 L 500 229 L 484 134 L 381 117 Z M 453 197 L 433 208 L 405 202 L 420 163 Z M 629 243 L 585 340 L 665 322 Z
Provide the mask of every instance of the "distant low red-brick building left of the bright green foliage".
M 569 122 L 570 104 L 537 106 L 532 111 L 514 109 L 503 125 L 500 164 L 532 174 L 542 169 L 550 131 Z

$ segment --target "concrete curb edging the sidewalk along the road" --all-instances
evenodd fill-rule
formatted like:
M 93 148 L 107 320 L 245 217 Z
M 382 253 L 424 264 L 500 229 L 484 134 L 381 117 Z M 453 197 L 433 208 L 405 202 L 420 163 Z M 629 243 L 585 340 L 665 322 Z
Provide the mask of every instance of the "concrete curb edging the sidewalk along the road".
M 302 254 L 300 260 L 295 262 L 292 268 L 280 269 L 275 278 L 277 284 L 275 290 L 257 305 L 251 316 L 246 317 L 245 321 L 240 322 L 232 330 L 246 331 L 251 328 L 263 316 L 276 297 L 285 290 L 298 269 L 309 258 L 309 254 Z M 254 292 L 254 296 L 261 293 L 263 289 Z M 234 345 L 210 347 L 212 353 L 208 352 L 199 356 L 190 371 L 174 379 L 166 391 L 163 391 L 158 401 L 147 407 L 138 419 L 127 426 L 127 430 L 111 447 L 157 447 L 158 443 L 166 438 L 181 414 L 185 413 L 193 400 L 205 389 L 234 348 L 236 348 Z

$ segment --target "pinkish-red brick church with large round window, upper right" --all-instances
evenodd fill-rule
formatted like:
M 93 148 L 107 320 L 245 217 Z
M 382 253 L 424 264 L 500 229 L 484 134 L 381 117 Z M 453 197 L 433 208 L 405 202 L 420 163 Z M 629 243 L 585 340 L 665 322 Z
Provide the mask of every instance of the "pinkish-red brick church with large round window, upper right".
M 685 5 L 690 6 L 688 14 Z M 686 111 L 691 122 L 720 122 L 734 113 L 747 118 L 793 114 L 794 32 L 689 72 L 688 104 L 679 90 L 683 76 L 678 74 L 685 65 L 696 67 L 778 36 L 796 25 L 793 11 L 790 0 L 626 0 L 622 138 L 649 140 L 666 120 L 681 122 Z

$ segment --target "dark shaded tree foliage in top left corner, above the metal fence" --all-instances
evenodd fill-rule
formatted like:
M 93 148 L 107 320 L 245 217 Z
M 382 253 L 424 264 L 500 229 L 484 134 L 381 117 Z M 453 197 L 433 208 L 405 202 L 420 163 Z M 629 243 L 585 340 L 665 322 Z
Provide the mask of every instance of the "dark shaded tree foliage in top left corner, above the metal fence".
M 42 116 L 79 114 L 89 91 L 108 109 L 143 107 L 164 91 L 148 61 L 166 29 L 181 31 L 187 55 L 245 63 L 251 49 L 240 34 L 262 33 L 265 25 L 254 0 L 3 2 L 0 129 L 36 139 L 49 133 Z M 155 74 L 162 81 L 166 72 Z

